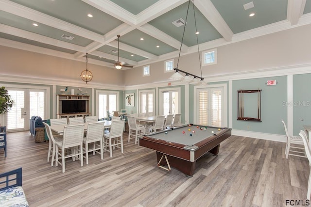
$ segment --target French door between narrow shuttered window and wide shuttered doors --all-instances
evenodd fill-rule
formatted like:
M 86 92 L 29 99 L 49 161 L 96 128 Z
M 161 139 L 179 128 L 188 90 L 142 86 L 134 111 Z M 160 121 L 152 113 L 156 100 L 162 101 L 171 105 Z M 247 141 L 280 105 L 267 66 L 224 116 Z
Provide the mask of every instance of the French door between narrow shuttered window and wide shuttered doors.
M 161 89 L 159 97 L 159 114 L 180 113 L 180 89 Z

